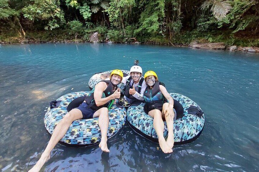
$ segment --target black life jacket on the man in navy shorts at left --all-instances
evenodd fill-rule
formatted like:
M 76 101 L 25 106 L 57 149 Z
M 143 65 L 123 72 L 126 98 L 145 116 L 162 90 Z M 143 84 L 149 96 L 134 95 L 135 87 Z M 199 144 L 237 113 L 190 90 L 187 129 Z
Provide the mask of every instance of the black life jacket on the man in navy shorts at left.
M 100 82 L 105 82 L 105 83 L 108 83 L 109 85 L 107 86 L 107 88 L 104 90 L 103 92 L 103 95 L 102 95 L 102 98 L 105 98 L 105 97 L 108 97 L 110 96 L 111 94 L 113 94 L 113 88 L 115 88 L 115 90 L 117 90 L 117 86 L 114 86 L 110 80 L 108 81 L 100 81 Z M 99 83 L 99 82 L 98 82 Z M 95 104 L 95 101 L 94 101 L 94 97 L 93 97 L 93 93 L 94 93 L 94 90 L 95 88 L 93 88 L 93 90 L 88 94 L 88 96 L 85 98 L 85 101 L 86 103 L 88 104 L 88 107 L 87 108 L 91 108 L 93 109 L 94 111 L 97 111 L 98 109 L 102 108 L 102 107 L 107 107 L 108 103 L 102 105 L 102 106 L 97 106 Z

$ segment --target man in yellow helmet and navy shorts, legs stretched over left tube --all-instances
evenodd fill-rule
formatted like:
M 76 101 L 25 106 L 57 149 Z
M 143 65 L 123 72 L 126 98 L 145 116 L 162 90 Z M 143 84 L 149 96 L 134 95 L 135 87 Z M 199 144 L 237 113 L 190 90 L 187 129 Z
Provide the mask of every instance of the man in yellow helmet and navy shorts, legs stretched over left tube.
M 123 73 L 121 70 L 113 70 L 110 75 L 110 80 L 98 82 L 83 103 L 64 116 L 54 129 L 42 156 L 30 171 L 39 171 L 41 169 L 44 163 L 50 158 L 51 150 L 56 146 L 59 140 L 63 138 L 72 122 L 78 119 L 99 117 L 98 124 L 101 130 L 101 142 L 99 147 L 104 152 L 110 152 L 107 146 L 107 131 L 109 125 L 107 106 L 112 99 L 120 98 L 121 93 L 117 85 L 122 81 L 122 78 Z M 105 96 L 103 96 L 103 93 Z

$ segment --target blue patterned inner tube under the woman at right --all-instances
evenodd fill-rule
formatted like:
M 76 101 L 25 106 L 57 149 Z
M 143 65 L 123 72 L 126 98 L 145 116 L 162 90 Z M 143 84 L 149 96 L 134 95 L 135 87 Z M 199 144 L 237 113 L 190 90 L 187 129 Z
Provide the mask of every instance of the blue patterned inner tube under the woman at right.
M 174 100 L 177 100 L 184 108 L 184 116 L 174 121 L 174 144 L 183 145 L 197 139 L 202 132 L 205 122 L 205 116 L 194 101 L 178 93 L 170 93 Z M 130 106 L 127 110 L 127 120 L 135 132 L 145 138 L 158 142 L 153 118 L 144 112 L 144 103 L 139 106 Z M 168 130 L 165 124 L 164 137 L 168 135 Z

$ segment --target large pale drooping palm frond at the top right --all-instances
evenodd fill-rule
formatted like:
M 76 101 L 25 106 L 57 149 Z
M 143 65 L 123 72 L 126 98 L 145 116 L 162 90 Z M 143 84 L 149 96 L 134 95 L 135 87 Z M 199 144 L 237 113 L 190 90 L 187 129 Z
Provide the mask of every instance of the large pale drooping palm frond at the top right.
M 230 5 L 230 3 L 224 0 L 214 1 L 211 7 L 211 11 L 213 12 L 214 17 L 217 20 L 223 19 L 231 9 L 232 6 Z

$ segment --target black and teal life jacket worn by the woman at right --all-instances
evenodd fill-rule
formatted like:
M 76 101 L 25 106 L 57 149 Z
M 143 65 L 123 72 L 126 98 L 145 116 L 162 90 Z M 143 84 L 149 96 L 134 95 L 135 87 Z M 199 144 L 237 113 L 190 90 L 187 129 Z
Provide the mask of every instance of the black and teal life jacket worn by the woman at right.
M 150 89 L 150 86 L 147 86 L 144 91 L 143 98 L 146 102 L 145 108 L 147 111 L 151 111 L 153 109 L 159 109 L 162 111 L 164 102 L 167 102 L 167 99 L 164 98 L 159 85 L 164 86 L 162 82 L 156 81 L 152 89 Z

